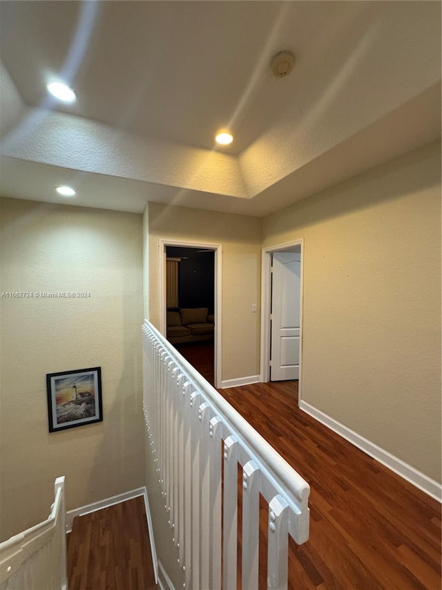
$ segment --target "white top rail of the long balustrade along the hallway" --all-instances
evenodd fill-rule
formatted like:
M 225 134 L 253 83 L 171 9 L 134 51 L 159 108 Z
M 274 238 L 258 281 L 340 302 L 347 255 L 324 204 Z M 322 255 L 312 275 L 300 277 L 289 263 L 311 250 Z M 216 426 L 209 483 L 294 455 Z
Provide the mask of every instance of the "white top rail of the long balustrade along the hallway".
M 164 338 L 164 335 L 151 322 L 148 322 L 148 320 L 144 320 L 144 322 L 144 329 L 150 330 L 166 351 L 174 358 L 177 365 L 181 365 L 195 386 L 202 391 L 216 411 L 219 412 L 221 418 L 242 436 L 244 442 L 249 445 L 258 457 L 261 457 L 265 461 L 266 467 L 273 472 L 276 478 L 280 479 L 287 490 L 290 490 L 291 494 L 300 503 L 306 504 L 310 494 L 310 487 L 307 481 L 177 352 L 175 347 Z

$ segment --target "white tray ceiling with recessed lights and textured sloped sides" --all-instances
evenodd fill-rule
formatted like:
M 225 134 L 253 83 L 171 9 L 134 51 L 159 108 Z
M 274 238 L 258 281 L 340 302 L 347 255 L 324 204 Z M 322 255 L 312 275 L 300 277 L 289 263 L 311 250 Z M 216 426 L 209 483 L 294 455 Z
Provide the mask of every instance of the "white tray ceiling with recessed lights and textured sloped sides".
M 440 138 L 440 48 L 437 1 L 1 1 L 1 194 L 263 216 Z

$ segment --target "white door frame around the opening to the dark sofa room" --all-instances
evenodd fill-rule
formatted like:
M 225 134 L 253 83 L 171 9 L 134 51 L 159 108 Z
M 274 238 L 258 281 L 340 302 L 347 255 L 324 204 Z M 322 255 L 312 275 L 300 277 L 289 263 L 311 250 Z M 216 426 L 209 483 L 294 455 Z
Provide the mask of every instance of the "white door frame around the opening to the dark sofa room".
M 189 241 L 174 241 L 168 239 L 158 240 L 158 270 L 159 270 L 159 311 L 160 311 L 160 332 L 166 338 L 166 247 L 178 246 L 180 248 L 201 248 L 204 250 L 213 250 L 215 252 L 215 301 L 213 312 L 215 315 L 215 336 L 214 342 L 214 358 L 213 358 L 213 380 L 215 387 L 221 387 L 222 375 L 222 354 L 221 354 L 221 297 L 222 297 L 222 244 L 220 243 L 206 243 L 206 242 L 189 242 Z

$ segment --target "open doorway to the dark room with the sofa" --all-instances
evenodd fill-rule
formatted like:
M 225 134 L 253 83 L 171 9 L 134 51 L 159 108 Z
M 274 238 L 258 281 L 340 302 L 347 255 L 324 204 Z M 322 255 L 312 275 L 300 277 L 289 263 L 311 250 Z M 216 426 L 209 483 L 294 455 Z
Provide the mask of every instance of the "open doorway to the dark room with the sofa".
M 216 387 L 220 371 L 220 246 L 164 241 L 162 333 Z

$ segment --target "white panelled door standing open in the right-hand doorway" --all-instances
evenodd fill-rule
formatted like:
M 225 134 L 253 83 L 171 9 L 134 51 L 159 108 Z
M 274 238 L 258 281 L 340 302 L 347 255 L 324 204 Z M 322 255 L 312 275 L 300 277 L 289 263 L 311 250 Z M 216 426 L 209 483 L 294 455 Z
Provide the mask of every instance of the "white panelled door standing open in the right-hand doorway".
M 271 287 L 271 381 L 299 378 L 300 253 L 274 252 Z

